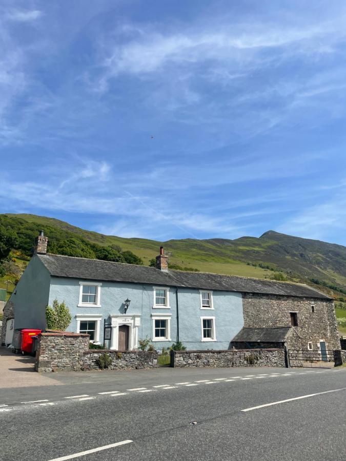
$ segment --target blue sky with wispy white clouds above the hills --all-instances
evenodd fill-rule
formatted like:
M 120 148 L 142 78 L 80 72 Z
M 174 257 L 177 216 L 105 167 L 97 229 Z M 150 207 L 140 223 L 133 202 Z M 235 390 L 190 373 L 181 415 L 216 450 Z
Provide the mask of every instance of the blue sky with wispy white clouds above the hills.
M 3 0 L 0 208 L 346 244 L 344 2 Z

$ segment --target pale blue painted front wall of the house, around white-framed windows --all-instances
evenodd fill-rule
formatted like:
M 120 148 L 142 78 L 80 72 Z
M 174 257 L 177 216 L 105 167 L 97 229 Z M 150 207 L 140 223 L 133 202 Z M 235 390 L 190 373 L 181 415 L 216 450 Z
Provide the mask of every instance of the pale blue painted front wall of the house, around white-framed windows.
M 87 281 L 86 281 L 87 283 Z M 65 301 L 72 322 L 69 330 L 77 330 L 77 315 L 102 315 L 100 342 L 103 343 L 103 322 L 111 315 L 124 314 L 124 300 L 131 300 L 128 316 L 140 315 L 138 339 L 153 337 L 152 314 L 171 314 L 171 341 L 154 342 L 156 348 L 167 347 L 177 340 L 176 288 L 170 288 L 170 309 L 153 308 L 154 289 L 151 285 L 103 282 L 101 307 L 78 307 L 79 279 L 51 278 L 49 304 L 54 299 Z M 198 289 L 178 288 L 179 339 L 188 349 L 227 349 L 231 339 L 243 326 L 241 294 L 227 291 L 213 292 L 214 309 L 200 308 Z M 201 317 L 215 317 L 216 341 L 201 341 Z

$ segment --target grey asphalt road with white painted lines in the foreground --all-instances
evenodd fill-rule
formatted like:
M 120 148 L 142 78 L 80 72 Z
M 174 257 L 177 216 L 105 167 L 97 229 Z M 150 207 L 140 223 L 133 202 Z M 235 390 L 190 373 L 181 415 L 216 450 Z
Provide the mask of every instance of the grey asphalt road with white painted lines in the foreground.
M 346 459 L 346 369 L 161 369 L 59 379 L 63 385 L 1 390 L 2 461 Z M 289 400 L 296 397 L 303 398 Z M 30 403 L 36 400 L 45 402 Z M 131 442 L 70 457 L 124 441 Z

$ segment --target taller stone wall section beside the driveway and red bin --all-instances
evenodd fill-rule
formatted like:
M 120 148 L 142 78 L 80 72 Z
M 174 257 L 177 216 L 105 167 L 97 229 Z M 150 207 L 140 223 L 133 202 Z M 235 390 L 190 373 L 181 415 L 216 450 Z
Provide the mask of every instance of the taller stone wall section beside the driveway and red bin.
M 36 350 L 36 371 L 77 371 L 89 350 L 89 334 L 40 333 Z

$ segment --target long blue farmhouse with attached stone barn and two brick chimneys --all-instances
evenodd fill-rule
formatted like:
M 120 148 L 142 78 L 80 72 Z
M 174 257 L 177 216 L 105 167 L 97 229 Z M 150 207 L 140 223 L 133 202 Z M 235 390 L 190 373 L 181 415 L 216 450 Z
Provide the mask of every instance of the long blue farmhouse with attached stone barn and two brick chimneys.
M 145 267 L 47 254 L 47 242 L 41 231 L 7 303 L 14 328 L 45 329 L 56 299 L 71 311 L 70 331 L 114 350 L 146 337 L 156 348 L 340 349 L 333 300 L 307 285 L 170 270 L 162 247 L 156 267 Z M 11 341 L 7 320 L 2 343 Z

